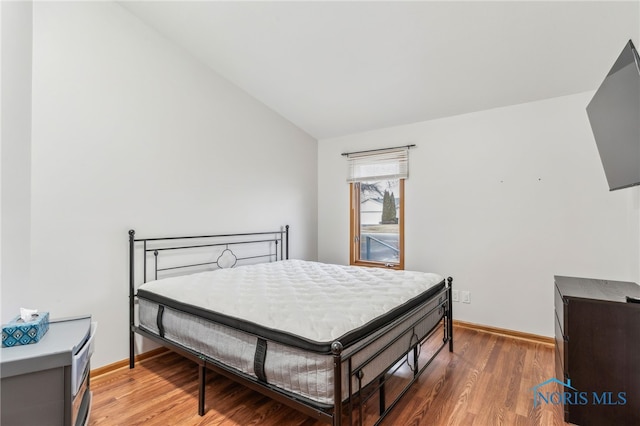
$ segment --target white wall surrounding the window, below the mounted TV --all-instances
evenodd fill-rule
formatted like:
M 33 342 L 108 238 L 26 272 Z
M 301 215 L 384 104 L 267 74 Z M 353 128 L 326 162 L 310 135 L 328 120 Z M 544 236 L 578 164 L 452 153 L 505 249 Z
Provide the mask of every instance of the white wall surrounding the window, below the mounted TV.
M 585 106 L 592 93 L 318 143 L 318 258 L 348 263 L 340 153 L 415 143 L 406 269 L 454 277 L 455 318 L 552 336 L 553 275 L 638 281 L 639 194 L 609 192 Z

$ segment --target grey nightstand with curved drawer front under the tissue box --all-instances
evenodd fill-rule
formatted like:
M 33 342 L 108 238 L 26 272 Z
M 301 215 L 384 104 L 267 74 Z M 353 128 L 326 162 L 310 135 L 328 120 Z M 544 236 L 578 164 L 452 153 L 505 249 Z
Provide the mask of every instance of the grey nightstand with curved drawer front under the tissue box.
M 38 343 L 0 349 L 0 423 L 88 424 L 95 329 L 91 316 L 51 320 Z

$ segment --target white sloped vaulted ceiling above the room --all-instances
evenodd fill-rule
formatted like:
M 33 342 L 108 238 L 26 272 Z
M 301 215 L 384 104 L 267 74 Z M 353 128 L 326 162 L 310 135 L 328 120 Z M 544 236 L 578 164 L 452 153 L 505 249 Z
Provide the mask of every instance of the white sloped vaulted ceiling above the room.
M 317 139 L 595 90 L 639 1 L 124 1 Z

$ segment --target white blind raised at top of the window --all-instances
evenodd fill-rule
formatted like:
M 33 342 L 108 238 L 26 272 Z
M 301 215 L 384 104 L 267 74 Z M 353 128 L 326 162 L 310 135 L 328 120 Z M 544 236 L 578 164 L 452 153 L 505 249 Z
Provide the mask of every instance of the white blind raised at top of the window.
M 347 182 L 409 177 L 409 147 L 347 154 Z

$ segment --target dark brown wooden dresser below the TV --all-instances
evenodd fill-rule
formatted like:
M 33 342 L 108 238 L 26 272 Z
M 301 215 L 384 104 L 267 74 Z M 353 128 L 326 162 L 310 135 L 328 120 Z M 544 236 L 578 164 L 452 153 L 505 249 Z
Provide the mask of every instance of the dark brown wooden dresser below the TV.
M 555 277 L 556 377 L 565 421 L 640 425 L 640 297 L 632 282 Z

